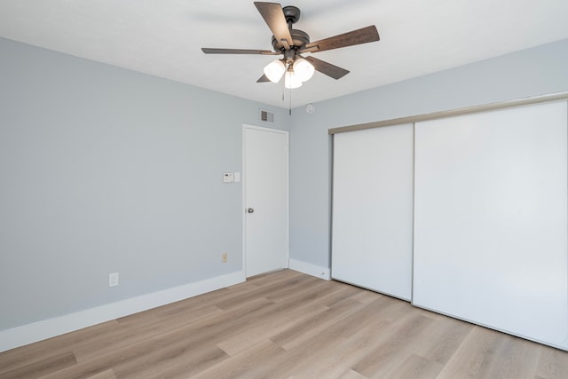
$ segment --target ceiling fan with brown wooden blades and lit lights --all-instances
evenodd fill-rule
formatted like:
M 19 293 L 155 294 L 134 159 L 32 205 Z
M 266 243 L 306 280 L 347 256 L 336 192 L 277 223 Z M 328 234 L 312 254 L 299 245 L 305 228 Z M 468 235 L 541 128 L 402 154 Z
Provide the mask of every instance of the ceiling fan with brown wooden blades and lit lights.
M 310 42 L 310 36 L 302 30 L 292 28 L 300 19 L 300 10 L 296 6 L 285 6 L 278 3 L 254 2 L 268 28 L 272 31 L 272 47 L 270 50 L 246 49 L 212 49 L 201 48 L 206 54 L 260 54 L 283 55 L 283 58 L 273 60 L 264 67 L 264 75 L 256 82 L 278 83 L 284 75 L 284 86 L 289 89 L 300 87 L 308 81 L 315 70 L 334 79 L 340 79 L 349 71 L 327 63 L 326 61 L 304 57 L 303 53 L 315 53 L 347 47 L 360 43 L 369 43 L 379 40 L 379 33 L 375 25 L 367 28 L 352 30 L 338 36 L 332 36 L 316 42 Z

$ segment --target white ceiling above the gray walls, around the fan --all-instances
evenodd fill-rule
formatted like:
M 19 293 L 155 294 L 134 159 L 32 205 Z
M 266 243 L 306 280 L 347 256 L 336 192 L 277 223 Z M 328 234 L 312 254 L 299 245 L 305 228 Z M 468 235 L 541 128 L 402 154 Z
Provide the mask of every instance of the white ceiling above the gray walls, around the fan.
M 314 57 L 351 71 L 316 73 L 293 107 L 568 38 L 568 0 L 289 0 L 316 41 L 376 25 L 380 42 Z M 272 49 L 248 0 L 0 0 L 0 36 L 288 108 L 281 83 L 256 83 L 274 57 L 201 47 Z

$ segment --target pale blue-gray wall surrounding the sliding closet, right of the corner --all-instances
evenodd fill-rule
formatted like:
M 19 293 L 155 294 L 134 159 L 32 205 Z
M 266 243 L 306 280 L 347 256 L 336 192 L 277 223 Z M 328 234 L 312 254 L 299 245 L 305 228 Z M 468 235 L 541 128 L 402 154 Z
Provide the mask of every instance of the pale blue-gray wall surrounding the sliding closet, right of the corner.
M 315 104 L 314 114 L 295 109 L 290 130 L 290 258 L 330 265 L 328 129 L 558 91 L 568 91 L 568 40 L 324 101 Z

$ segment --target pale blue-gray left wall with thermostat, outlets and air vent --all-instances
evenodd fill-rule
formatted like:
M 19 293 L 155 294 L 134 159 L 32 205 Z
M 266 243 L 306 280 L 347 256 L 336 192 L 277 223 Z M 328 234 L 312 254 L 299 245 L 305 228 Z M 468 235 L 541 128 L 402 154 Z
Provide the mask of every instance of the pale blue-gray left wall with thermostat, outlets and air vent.
M 0 56 L 0 330 L 241 271 L 222 173 L 243 123 L 262 107 L 288 129 L 287 110 L 5 39 Z

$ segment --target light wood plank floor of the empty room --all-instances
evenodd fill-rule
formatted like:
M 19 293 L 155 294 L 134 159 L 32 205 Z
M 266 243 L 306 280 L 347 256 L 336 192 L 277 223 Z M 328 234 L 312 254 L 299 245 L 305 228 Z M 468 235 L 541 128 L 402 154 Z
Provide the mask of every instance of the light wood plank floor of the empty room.
M 0 378 L 566 379 L 568 352 L 283 270 L 0 353 Z

